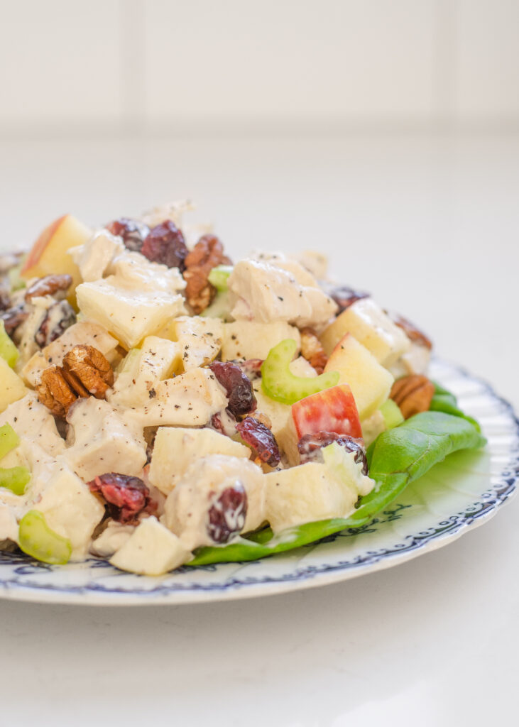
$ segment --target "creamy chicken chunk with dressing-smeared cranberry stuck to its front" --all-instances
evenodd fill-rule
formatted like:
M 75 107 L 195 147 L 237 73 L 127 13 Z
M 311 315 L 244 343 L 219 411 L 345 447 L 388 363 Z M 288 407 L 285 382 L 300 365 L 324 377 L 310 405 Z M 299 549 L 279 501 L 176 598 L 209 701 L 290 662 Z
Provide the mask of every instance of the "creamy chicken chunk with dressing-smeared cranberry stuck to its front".
M 260 467 L 241 457 L 211 454 L 188 467 L 168 495 L 164 507 L 166 526 L 177 534 L 185 547 L 214 545 L 209 529 L 209 509 L 227 489 L 242 487 L 246 492 L 246 517 L 239 527 L 236 513 L 222 513 L 230 529 L 248 532 L 265 521 L 265 475 Z M 243 512 L 243 511 L 242 511 Z

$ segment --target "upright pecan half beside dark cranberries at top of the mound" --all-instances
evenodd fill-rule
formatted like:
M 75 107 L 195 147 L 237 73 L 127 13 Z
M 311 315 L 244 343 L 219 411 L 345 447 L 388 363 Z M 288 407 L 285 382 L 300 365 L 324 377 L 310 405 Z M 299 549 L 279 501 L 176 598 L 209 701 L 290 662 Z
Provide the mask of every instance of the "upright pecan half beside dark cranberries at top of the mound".
M 209 283 L 209 273 L 222 262 L 229 262 L 223 245 L 214 235 L 202 236 L 185 258 L 185 297 L 195 313 L 201 313 L 212 302 L 216 289 Z

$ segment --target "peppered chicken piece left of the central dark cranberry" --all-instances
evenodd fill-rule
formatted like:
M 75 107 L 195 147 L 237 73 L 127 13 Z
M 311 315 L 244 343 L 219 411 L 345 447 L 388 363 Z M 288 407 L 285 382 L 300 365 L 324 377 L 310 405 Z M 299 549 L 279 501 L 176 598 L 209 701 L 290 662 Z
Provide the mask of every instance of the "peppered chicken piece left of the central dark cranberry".
M 158 382 L 153 390 L 155 396 L 145 406 L 126 409 L 125 417 L 142 427 L 203 427 L 228 405 L 224 388 L 209 369 L 190 369 Z

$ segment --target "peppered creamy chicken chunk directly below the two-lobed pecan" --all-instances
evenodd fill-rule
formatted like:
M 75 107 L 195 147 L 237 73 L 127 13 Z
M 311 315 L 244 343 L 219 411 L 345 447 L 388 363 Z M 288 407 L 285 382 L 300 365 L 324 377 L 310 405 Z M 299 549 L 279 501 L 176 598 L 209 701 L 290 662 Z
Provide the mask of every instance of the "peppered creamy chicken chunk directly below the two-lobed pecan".
M 67 420 L 71 446 L 63 459 L 84 481 L 107 472 L 141 475 L 147 459 L 142 428 L 132 426 L 132 420 L 123 418 L 108 401 L 79 399 Z

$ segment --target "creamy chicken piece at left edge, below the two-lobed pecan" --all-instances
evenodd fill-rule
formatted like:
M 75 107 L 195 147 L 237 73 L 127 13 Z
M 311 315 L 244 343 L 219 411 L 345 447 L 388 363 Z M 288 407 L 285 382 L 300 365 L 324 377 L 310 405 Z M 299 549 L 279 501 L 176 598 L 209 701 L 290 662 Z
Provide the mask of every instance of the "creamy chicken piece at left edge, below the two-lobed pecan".
M 65 442 L 57 432 L 54 417 L 33 392 L 10 404 L 0 414 L 0 426 L 4 424 L 11 425 L 21 439 L 38 444 L 52 457 L 65 450 Z

